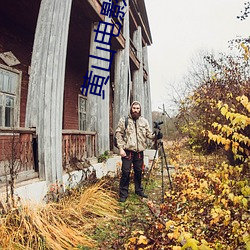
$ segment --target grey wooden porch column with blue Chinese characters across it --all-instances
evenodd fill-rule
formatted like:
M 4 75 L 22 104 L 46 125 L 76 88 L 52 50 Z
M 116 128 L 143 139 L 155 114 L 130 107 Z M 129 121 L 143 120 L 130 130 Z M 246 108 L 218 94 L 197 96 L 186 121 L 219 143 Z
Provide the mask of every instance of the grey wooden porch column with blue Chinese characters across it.
M 110 22 L 110 19 L 105 19 L 105 22 Z M 109 45 L 94 42 L 97 30 L 98 22 L 92 24 L 91 36 L 90 36 L 90 55 L 94 55 L 100 58 L 110 58 L 110 54 L 107 51 L 97 49 L 96 46 L 105 49 L 110 49 Z M 97 66 L 101 68 L 108 68 L 109 62 L 89 57 L 89 72 L 93 71 L 94 75 L 103 76 L 107 79 L 110 72 L 92 68 L 91 66 Z M 104 151 L 109 150 L 109 88 L 110 80 L 106 85 L 103 85 L 102 90 L 105 92 L 105 98 L 88 93 L 87 101 L 87 130 L 97 132 L 97 154 L 103 154 Z

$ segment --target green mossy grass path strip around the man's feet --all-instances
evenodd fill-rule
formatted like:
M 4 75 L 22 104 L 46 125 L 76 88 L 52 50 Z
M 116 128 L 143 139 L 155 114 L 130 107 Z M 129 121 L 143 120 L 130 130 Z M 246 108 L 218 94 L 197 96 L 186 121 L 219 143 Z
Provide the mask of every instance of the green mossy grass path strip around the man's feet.
M 131 178 L 133 179 L 133 178 Z M 164 189 L 168 188 L 167 176 L 164 176 Z M 119 178 L 107 179 L 108 188 L 117 193 Z M 131 181 L 129 197 L 126 202 L 118 203 L 120 206 L 121 219 L 108 223 L 97 223 L 91 230 L 90 236 L 98 242 L 96 250 L 126 249 L 126 243 L 131 235 L 146 232 L 156 220 L 158 207 L 162 201 L 162 177 L 160 171 L 152 171 L 149 178 L 144 176 L 143 187 L 148 198 L 141 199 L 134 193 L 134 183 Z M 153 203 L 156 210 L 152 212 L 148 204 Z M 88 248 L 81 248 L 88 249 Z

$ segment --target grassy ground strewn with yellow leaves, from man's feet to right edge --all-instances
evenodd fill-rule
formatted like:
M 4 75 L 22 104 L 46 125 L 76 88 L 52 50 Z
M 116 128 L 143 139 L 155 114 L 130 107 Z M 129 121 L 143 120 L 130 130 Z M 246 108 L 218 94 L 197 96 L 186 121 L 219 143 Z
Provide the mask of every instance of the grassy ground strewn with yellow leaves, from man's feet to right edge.
M 184 249 L 183 245 L 193 244 L 193 249 L 244 249 L 244 243 L 248 242 L 250 247 L 250 228 L 246 228 L 246 224 L 249 222 L 249 216 L 246 213 L 247 204 L 245 208 L 242 207 L 242 204 L 238 204 L 234 200 L 235 204 L 232 204 L 230 199 L 225 196 L 226 192 L 223 188 L 227 187 L 225 185 L 220 185 L 219 187 L 222 190 L 219 190 L 215 185 L 213 189 L 214 180 L 219 180 L 220 183 L 229 183 L 229 188 L 233 196 L 234 186 L 230 183 L 236 183 L 238 179 L 237 175 L 231 173 L 232 171 L 237 172 L 237 169 L 233 170 L 231 168 L 225 168 L 223 171 L 225 174 L 222 174 L 219 169 L 220 162 L 224 159 L 223 155 L 210 155 L 202 156 L 193 154 L 190 150 L 181 147 L 180 145 L 174 145 L 174 147 L 167 150 L 168 159 L 170 163 L 175 165 L 176 173 L 178 173 L 176 178 L 173 179 L 173 186 L 176 192 L 168 192 L 169 195 L 165 197 L 164 203 L 162 203 L 162 191 L 168 191 L 169 183 L 168 176 L 165 174 L 163 176 L 163 186 L 162 186 L 162 175 L 161 169 L 154 169 L 150 174 L 149 179 L 145 176 L 143 186 L 146 190 L 145 193 L 148 194 L 148 199 L 140 199 L 134 194 L 134 184 L 130 184 L 129 197 L 125 203 L 118 203 L 119 212 L 121 214 L 120 220 L 109 221 L 108 223 L 96 223 L 95 228 L 90 231 L 90 236 L 95 239 L 98 244 L 93 250 L 108 250 L 108 249 L 119 249 L 119 250 L 136 250 L 136 249 Z M 184 167 L 184 168 L 183 168 Z M 160 168 L 160 166 L 158 166 Z M 183 169 L 182 169 L 183 168 Z M 179 169 L 179 170 L 178 170 Z M 229 171 L 229 170 L 231 171 Z M 179 171 L 179 172 L 178 172 Z M 207 172 L 206 172 L 207 171 Z M 228 172 L 229 171 L 229 172 Z M 166 172 L 166 169 L 164 173 Z M 223 173 L 224 173 L 223 172 Z M 202 174 L 202 178 L 205 178 L 204 183 L 210 183 L 210 189 L 208 193 L 204 193 L 202 190 L 203 182 L 200 182 L 199 175 Z M 198 177 L 197 177 L 197 176 Z M 198 179 L 197 179 L 197 178 Z M 230 178 L 229 178 L 230 177 Z M 239 177 L 239 176 L 238 176 Z M 133 178 L 131 178 L 133 179 Z M 205 180 L 204 179 L 204 180 Z M 232 179 L 232 180 L 231 180 Z M 179 180 L 179 182 L 178 182 Z M 192 180 L 196 180 L 192 181 Z M 203 180 L 203 181 L 204 181 Z M 108 181 L 108 188 L 112 189 L 116 193 L 116 199 L 118 200 L 118 185 L 119 178 L 110 179 Z M 183 189 L 178 193 L 179 188 L 187 182 L 187 188 Z M 194 186 L 196 183 L 198 186 Z M 239 182 L 241 183 L 241 182 Z M 193 187 L 194 186 L 194 187 Z M 200 187 L 202 186 L 202 188 Z M 192 189 L 193 187 L 193 189 Z M 183 187 L 182 187 L 183 188 Z M 204 194 L 214 197 L 214 199 L 206 199 L 202 195 L 197 196 L 198 200 L 193 200 L 193 196 L 196 194 Z M 198 192 L 198 193 L 197 193 Z M 217 192 L 222 192 L 221 197 L 223 197 L 223 202 L 225 207 L 223 208 L 225 213 L 230 213 L 230 223 L 228 225 L 226 219 L 227 217 L 219 217 L 222 222 L 214 222 L 213 216 L 215 216 L 214 211 L 217 211 L 216 208 L 220 201 L 217 200 Z M 172 195 L 171 195 L 172 194 Z M 182 195 L 181 195 L 182 194 Z M 187 196 L 185 196 L 185 195 Z M 185 197 L 183 197 L 183 195 Z M 234 192 L 235 197 L 239 196 L 239 192 Z M 210 202 L 211 200 L 211 202 Z M 209 203 L 210 202 L 210 203 Z M 209 203 L 208 205 L 205 205 Z M 250 203 L 250 201 L 249 201 Z M 192 204 L 192 206 L 191 206 Z M 179 207 L 180 205 L 180 207 Z M 230 205 L 230 206 L 229 206 Z M 231 206 L 232 205 L 232 206 Z M 161 206 L 162 214 L 159 215 Z M 223 204 L 222 204 L 223 207 Z M 242 214 L 242 218 L 234 216 L 235 211 L 239 211 L 239 214 Z M 177 215 L 178 211 L 178 215 Z M 204 213 L 204 215 L 201 213 Z M 194 216 L 195 215 L 195 216 Z M 166 217 L 168 216 L 168 218 Z M 218 215 L 221 216 L 221 215 Z M 173 222 L 173 218 L 176 217 L 176 221 Z M 171 219 L 172 218 L 172 219 Z M 202 219 L 201 219 L 202 218 Z M 205 220 L 205 222 L 201 222 Z M 224 220 L 224 221 L 223 221 Z M 168 228 L 166 221 L 169 223 L 176 223 L 175 231 L 172 232 L 173 228 L 171 226 Z M 238 237 L 234 224 L 242 223 L 242 227 L 237 230 L 239 233 L 243 234 L 244 237 Z M 203 223 L 203 224 L 202 224 Z M 224 224 L 223 224 L 224 223 Z M 227 225 L 227 226 L 225 226 Z M 245 226 L 244 226 L 245 225 Z M 200 228 L 201 226 L 201 228 Z M 225 227 L 225 228 L 224 228 Z M 204 229 L 205 228 L 205 229 Z M 232 229 L 232 230 L 231 230 Z M 247 233 L 247 230 L 249 232 Z M 190 234 L 191 232 L 191 234 Z M 190 238 L 193 235 L 194 238 Z M 213 239 L 210 239 L 209 235 L 213 235 Z M 223 236 L 220 236 L 223 235 Z M 179 239 L 185 238 L 179 242 Z M 218 236 L 218 237 L 217 237 Z M 221 237 L 221 238 L 220 238 Z M 195 240 L 196 238 L 196 240 Z M 235 238 L 235 242 L 232 240 Z M 177 240 L 178 239 L 178 240 Z M 210 241 L 211 242 L 207 242 Z M 198 240 L 198 241 L 197 241 Z M 229 243 L 228 243 L 229 242 Z M 235 246 L 238 248 L 230 247 L 230 244 L 234 242 Z M 198 246 L 199 248 L 198 248 Z M 196 247 L 196 248 L 195 248 Z M 83 248 L 82 248 L 83 249 Z M 87 248 L 85 248 L 87 249 Z M 248 248 L 247 248 L 248 249 Z M 250 249 L 250 248 L 249 248 Z

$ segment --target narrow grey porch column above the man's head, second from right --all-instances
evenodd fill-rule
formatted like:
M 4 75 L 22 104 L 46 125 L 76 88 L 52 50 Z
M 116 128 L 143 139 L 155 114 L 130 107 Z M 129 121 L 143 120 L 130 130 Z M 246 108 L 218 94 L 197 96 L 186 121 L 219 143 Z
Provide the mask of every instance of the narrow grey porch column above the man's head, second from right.
M 140 61 L 140 68 L 133 72 L 133 100 L 137 100 L 142 106 L 142 116 L 145 116 L 145 100 L 144 96 L 144 83 L 143 83 L 143 61 L 142 61 L 142 34 L 141 27 L 138 26 L 133 34 L 133 42 L 137 50 L 137 58 Z M 144 103 L 145 102 L 145 103 Z

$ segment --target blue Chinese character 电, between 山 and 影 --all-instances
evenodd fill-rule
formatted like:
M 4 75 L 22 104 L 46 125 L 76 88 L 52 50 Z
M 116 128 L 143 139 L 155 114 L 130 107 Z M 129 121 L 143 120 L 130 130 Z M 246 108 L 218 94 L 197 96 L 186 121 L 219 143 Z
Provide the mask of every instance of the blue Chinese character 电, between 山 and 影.
M 117 36 L 119 36 L 119 34 L 121 32 L 121 24 L 120 23 L 117 23 L 117 24 L 119 26 L 119 30 L 118 30 L 117 34 L 114 35 L 113 31 L 114 31 L 115 25 L 113 23 L 99 21 L 97 29 L 94 30 L 96 32 L 95 42 L 111 45 L 110 41 L 111 41 L 112 36 L 117 37 Z M 108 26 L 111 26 L 110 31 L 107 30 Z M 103 27 L 103 29 L 101 29 L 101 27 Z M 105 39 L 106 37 L 108 37 L 108 38 Z

